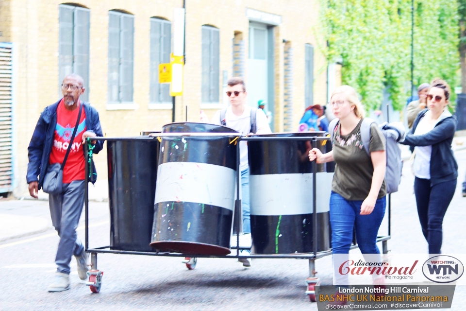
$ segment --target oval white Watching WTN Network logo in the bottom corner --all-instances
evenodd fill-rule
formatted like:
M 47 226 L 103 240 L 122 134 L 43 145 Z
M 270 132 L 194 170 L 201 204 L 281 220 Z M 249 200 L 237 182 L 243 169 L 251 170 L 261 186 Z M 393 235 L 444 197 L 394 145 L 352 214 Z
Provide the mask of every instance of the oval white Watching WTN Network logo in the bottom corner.
M 427 259 L 422 265 L 422 273 L 435 283 L 450 283 L 459 279 L 465 272 L 465 267 L 460 260 L 439 255 Z

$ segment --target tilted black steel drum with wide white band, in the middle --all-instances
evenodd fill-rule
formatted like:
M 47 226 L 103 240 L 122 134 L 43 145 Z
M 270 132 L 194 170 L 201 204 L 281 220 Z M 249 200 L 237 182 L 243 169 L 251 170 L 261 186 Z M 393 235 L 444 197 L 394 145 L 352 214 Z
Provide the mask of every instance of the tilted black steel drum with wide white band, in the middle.
M 199 255 L 230 254 L 237 132 L 206 123 L 170 123 L 162 136 L 150 246 Z

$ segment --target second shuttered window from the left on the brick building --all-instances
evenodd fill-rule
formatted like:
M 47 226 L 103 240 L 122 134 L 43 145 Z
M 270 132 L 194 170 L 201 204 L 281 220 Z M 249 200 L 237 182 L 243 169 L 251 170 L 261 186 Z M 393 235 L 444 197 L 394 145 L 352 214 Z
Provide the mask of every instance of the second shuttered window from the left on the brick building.
M 108 12 L 108 102 L 133 103 L 134 16 Z

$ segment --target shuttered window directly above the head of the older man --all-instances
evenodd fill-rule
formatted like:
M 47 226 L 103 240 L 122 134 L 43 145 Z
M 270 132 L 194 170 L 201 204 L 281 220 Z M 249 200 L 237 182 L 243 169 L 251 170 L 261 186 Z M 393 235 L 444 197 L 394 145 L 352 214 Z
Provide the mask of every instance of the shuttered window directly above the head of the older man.
M 82 7 L 59 5 L 58 83 L 62 96 L 63 79 L 70 73 L 83 77 L 86 91 L 83 101 L 89 99 L 89 29 L 90 10 Z

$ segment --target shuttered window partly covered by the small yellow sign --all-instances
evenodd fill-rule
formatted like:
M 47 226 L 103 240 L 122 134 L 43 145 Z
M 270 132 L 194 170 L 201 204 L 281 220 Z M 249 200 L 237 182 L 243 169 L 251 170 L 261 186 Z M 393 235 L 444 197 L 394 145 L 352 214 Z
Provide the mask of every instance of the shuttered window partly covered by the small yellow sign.
M 159 64 L 170 62 L 171 22 L 150 18 L 150 103 L 171 104 L 170 85 L 159 84 Z

